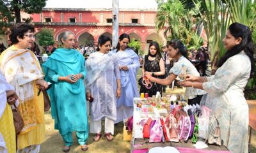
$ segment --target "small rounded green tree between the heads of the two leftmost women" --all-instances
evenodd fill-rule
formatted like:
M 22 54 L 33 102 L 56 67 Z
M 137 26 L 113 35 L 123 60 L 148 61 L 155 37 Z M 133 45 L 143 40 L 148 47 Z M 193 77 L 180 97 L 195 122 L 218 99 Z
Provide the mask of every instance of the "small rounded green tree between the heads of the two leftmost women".
M 36 36 L 38 37 L 39 45 L 44 48 L 44 52 L 47 46 L 54 45 L 55 43 L 52 29 L 44 27 Z

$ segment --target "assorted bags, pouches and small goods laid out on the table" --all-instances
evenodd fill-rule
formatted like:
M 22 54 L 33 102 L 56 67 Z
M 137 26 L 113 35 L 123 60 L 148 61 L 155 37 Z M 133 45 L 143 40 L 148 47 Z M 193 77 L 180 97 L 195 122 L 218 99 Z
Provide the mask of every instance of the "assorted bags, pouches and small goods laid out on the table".
M 198 137 L 207 139 L 211 110 L 206 106 L 187 105 L 180 95 L 153 96 L 134 102 L 142 129 L 141 135 L 135 132 L 135 138 L 143 137 L 146 142 L 188 142 L 192 139 L 193 143 Z

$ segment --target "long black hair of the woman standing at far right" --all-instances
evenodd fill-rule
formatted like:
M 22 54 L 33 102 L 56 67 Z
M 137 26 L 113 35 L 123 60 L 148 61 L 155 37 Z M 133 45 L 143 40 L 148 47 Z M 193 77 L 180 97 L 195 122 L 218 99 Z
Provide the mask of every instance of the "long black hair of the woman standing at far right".
M 228 30 L 230 34 L 234 36 L 234 38 L 242 38 L 241 43 L 235 45 L 233 48 L 228 50 L 223 57 L 221 57 L 220 62 L 218 62 L 218 67 L 220 68 L 224 62 L 227 61 L 230 57 L 239 54 L 242 50 L 244 50 L 245 54 L 248 55 L 251 61 L 251 74 L 250 78 L 254 75 L 254 58 L 253 58 L 253 41 L 252 41 L 252 31 L 250 31 L 249 27 L 243 24 L 239 24 L 237 22 L 229 25 Z

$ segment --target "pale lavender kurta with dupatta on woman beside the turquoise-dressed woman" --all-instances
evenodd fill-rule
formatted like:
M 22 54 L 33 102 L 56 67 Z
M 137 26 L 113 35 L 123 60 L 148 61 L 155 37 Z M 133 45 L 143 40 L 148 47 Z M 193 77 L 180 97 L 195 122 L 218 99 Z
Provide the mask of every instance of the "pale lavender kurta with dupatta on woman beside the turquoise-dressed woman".
M 92 92 L 94 98 L 90 103 L 92 120 L 100 120 L 102 117 L 116 120 L 116 80 L 120 79 L 116 55 L 92 53 L 86 60 L 86 69 L 87 90 Z

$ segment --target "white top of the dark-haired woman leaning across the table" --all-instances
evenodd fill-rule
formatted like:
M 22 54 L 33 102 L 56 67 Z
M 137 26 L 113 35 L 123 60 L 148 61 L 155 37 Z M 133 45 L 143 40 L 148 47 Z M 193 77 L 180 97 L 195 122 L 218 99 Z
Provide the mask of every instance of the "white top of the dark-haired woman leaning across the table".
M 199 76 L 198 71 L 196 70 L 195 66 L 186 59 L 186 57 L 181 56 L 177 62 L 174 62 L 173 67 L 170 69 L 169 74 L 173 73 L 179 77 L 181 73 L 182 66 L 186 67 L 186 73 L 189 75 Z M 195 89 L 193 87 L 186 87 L 185 97 L 188 99 L 196 98 L 197 95 L 205 94 L 205 91 L 200 89 Z

